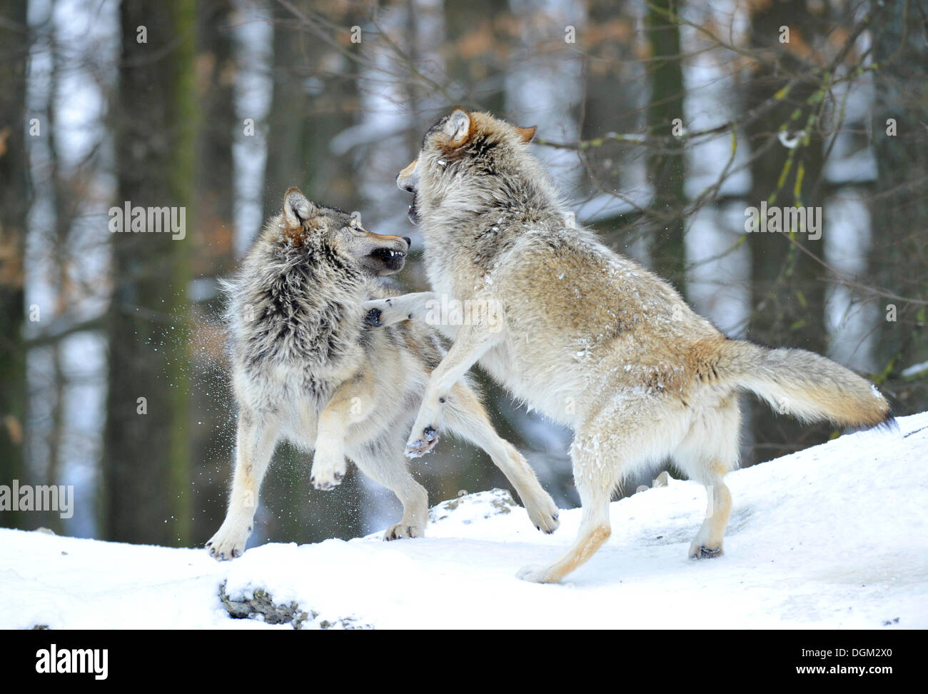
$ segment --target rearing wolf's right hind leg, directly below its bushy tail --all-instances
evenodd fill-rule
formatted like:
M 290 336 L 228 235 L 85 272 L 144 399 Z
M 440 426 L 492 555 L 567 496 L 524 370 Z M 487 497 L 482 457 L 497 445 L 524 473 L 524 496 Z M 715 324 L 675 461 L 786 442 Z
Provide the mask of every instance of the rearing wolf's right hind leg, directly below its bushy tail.
M 731 493 L 725 474 L 738 467 L 741 413 L 733 396 L 696 418 L 673 456 L 691 480 L 702 482 L 708 499 L 705 520 L 690 544 L 690 559 L 722 555 L 722 543 L 731 515 Z

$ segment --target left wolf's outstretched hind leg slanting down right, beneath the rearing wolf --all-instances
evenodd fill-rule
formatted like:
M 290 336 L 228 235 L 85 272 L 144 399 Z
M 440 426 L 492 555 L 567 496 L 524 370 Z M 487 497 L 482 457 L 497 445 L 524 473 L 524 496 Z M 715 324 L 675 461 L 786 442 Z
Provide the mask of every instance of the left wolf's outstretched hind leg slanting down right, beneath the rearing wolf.
M 451 389 L 444 418 L 449 431 L 479 445 L 493 459 L 522 498 L 535 528 L 543 533 L 553 533 L 558 529 L 561 521 L 558 520 L 559 511 L 554 500 L 542 489 L 535 472 L 515 446 L 496 433 L 480 399 L 462 381 Z

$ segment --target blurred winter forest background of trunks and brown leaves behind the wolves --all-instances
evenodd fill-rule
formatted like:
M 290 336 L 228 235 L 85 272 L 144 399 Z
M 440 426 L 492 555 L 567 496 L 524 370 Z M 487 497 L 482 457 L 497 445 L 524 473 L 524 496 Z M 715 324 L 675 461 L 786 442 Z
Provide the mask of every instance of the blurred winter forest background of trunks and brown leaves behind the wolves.
M 396 282 L 425 289 L 393 179 L 455 105 L 537 125 L 577 221 L 729 336 L 828 354 L 896 415 L 928 409 L 926 9 L 0 0 L 0 484 L 76 495 L 70 520 L 0 524 L 202 545 L 235 431 L 217 278 L 300 186 L 412 237 Z M 186 237 L 110 233 L 130 201 L 185 208 Z M 763 201 L 820 207 L 821 238 L 745 233 Z M 479 378 L 500 433 L 576 506 L 570 433 Z M 743 465 L 837 433 L 744 404 Z M 432 504 L 508 486 L 464 443 L 413 465 Z M 375 532 L 398 508 L 354 469 L 332 492 L 308 477 L 281 445 L 252 545 Z

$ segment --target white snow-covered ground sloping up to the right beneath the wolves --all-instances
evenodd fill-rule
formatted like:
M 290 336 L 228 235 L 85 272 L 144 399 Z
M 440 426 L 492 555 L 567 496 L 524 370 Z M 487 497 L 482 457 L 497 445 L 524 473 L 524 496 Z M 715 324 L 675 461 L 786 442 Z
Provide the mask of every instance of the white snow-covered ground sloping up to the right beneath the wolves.
M 612 504 L 612 538 L 563 585 L 518 581 L 554 559 L 504 492 L 432 509 L 429 536 L 203 549 L 0 530 L 0 628 L 290 629 L 231 619 L 219 586 L 307 613 L 303 628 L 928 628 L 928 413 L 728 476 L 726 554 L 691 561 L 702 487 L 671 481 Z M 315 615 L 315 617 L 314 617 Z

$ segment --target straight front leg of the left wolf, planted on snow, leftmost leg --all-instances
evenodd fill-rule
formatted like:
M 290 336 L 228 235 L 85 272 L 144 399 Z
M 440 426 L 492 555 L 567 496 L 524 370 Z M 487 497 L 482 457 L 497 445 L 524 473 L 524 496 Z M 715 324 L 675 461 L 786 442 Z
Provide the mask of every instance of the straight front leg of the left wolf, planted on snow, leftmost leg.
M 235 559 L 245 551 L 258 507 L 258 492 L 274 455 L 279 427 L 276 416 L 258 415 L 245 408 L 238 412 L 235 474 L 226 520 L 206 543 L 214 559 Z

